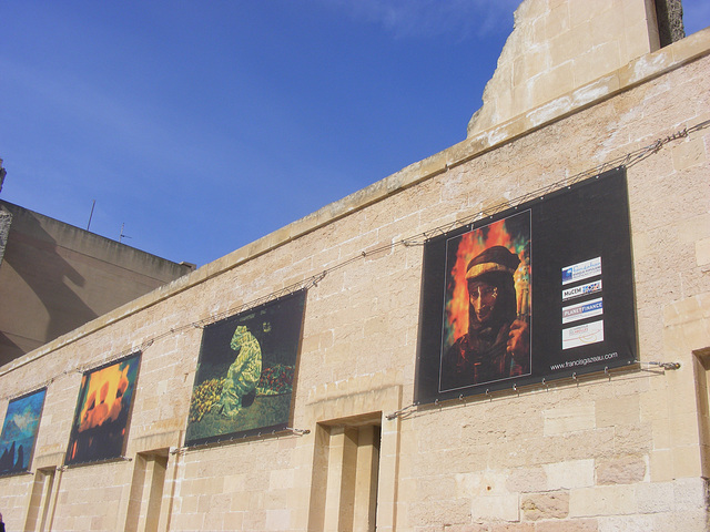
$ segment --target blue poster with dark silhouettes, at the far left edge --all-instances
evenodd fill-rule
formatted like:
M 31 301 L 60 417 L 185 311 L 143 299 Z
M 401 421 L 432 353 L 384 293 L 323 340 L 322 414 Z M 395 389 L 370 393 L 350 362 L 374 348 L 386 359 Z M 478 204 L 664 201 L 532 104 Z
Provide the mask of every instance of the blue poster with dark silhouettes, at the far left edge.
M 30 470 L 47 388 L 12 399 L 0 433 L 0 475 Z

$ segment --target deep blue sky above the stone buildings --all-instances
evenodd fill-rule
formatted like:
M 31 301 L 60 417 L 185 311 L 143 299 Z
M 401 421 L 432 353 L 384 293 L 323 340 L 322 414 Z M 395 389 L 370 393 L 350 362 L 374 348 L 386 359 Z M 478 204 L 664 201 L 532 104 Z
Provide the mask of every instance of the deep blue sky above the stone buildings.
M 464 140 L 517 4 L 7 0 L 0 198 L 204 265 Z

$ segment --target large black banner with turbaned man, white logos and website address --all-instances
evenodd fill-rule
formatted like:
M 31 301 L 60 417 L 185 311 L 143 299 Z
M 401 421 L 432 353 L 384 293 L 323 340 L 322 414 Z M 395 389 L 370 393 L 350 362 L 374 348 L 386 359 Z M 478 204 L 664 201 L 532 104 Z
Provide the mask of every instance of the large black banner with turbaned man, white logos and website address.
M 415 402 L 636 361 L 626 171 L 430 238 Z

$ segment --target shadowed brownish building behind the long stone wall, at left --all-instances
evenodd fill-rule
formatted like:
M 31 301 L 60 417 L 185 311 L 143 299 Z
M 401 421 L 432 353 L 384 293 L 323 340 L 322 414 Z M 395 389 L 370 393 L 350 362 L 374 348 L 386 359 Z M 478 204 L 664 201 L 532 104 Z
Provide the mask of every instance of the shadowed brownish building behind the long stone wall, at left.
M 0 201 L 0 365 L 193 269 Z

